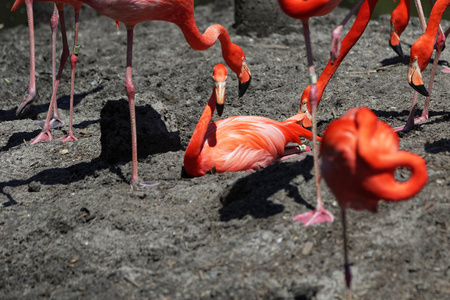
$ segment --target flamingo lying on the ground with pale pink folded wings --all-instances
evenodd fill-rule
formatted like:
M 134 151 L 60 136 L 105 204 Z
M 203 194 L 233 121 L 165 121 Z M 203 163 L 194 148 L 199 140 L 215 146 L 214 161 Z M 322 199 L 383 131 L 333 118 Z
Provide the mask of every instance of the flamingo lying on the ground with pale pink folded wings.
M 299 136 L 312 139 L 311 131 L 300 126 L 302 115 L 284 122 L 256 116 L 236 116 L 211 122 L 217 107 L 219 116 L 225 100 L 227 69 L 214 67 L 215 87 L 184 155 L 184 168 L 190 176 L 257 170 L 275 161 L 299 154 Z M 304 115 L 303 115 L 304 116 Z M 318 138 L 321 140 L 320 138 Z M 302 147 L 300 147 L 302 148 Z

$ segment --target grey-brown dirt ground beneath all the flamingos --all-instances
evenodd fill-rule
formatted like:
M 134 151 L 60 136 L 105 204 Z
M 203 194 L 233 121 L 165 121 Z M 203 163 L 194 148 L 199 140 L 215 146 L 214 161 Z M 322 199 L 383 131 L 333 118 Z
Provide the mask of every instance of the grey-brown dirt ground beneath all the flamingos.
M 288 35 L 237 36 L 232 8 L 209 5 L 195 12 L 202 31 L 212 23 L 229 30 L 253 74 L 241 99 L 236 77 L 229 76 L 223 117 L 283 120 L 295 114 L 308 84 L 300 24 L 298 33 Z M 328 61 L 331 29 L 346 12 L 311 19 L 318 72 Z M 71 28 L 68 24 L 69 43 Z M 31 146 L 40 130 L 34 123 L 45 118 L 51 95 L 49 26 L 38 24 L 35 31 L 40 97 L 25 118 L 16 119 L 28 84 L 28 31 L 0 30 L 1 299 L 345 297 L 339 207 L 324 183 L 325 205 L 336 221 L 308 228 L 292 221 L 315 204 L 311 153 L 260 171 L 180 176 L 184 149 L 212 90 L 212 68 L 223 62 L 218 43 L 197 52 L 173 24 L 136 27 L 139 115 L 167 132 L 172 144 L 141 153 L 140 177 L 159 185 L 131 192 L 130 158 L 106 161 L 104 154 L 111 154 L 106 148 L 114 143 L 101 142 L 116 130 L 110 121 L 114 110 L 107 107 L 116 109 L 117 124 L 128 122 L 122 112 L 124 26 L 117 31 L 110 19 L 81 14 L 74 114 L 79 140 Z M 402 36 L 405 53 L 419 33 L 413 18 Z M 344 60 L 320 103 L 320 133 L 355 106 L 368 106 L 392 126 L 405 123 L 413 95 L 406 81 L 409 56 L 398 58 L 388 35 L 389 17 L 373 20 Z M 443 52 L 443 64 L 449 53 Z M 58 92 L 66 124 L 69 78 L 67 64 Z M 410 201 L 381 203 L 377 214 L 349 212 L 355 299 L 450 298 L 449 86 L 450 76 L 438 72 L 430 119 L 400 135 L 400 148 L 427 162 L 429 182 L 422 192 Z M 419 107 L 423 102 L 420 97 Z M 53 137 L 65 130 L 53 130 Z

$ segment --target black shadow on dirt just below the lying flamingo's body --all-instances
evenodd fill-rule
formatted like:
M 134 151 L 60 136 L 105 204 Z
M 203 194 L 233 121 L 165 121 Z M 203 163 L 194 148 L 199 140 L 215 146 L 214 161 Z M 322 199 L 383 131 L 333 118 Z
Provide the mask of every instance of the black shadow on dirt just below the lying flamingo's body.
M 301 161 L 275 163 L 239 179 L 233 186 L 225 189 L 220 197 L 223 205 L 219 209 L 221 221 L 242 219 L 246 215 L 268 218 L 281 213 L 284 206 L 268 200 L 280 190 L 287 191 L 295 202 L 312 209 L 299 193 L 298 187 L 290 183 L 300 175 L 305 181 L 313 179 L 312 168 L 313 158 L 308 155 Z

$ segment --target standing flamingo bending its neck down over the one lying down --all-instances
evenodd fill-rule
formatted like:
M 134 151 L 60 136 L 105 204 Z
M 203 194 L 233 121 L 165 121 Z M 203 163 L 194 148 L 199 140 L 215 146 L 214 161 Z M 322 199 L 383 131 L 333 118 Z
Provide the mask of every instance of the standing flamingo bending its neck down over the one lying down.
M 133 30 L 141 22 L 150 20 L 167 21 L 176 24 L 184 34 L 191 48 L 206 50 L 217 40 L 222 45 L 222 56 L 226 64 L 239 79 L 239 96 L 243 96 L 251 81 L 251 73 L 242 49 L 233 44 L 226 29 L 219 24 L 209 26 L 201 34 L 195 24 L 193 0 L 81 0 L 97 12 L 115 21 L 122 22 L 127 28 L 127 67 L 125 87 L 128 95 L 131 119 L 132 177 L 134 188 L 154 186 L 141 182 L 137 168 L 137 138 L 135 117 L 135 88 L 132 80 Z

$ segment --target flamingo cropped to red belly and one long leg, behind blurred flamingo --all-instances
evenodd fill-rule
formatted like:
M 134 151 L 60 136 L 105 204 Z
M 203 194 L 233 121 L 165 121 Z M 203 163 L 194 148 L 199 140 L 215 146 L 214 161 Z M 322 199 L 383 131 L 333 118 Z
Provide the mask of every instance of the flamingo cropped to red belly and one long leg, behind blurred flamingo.
M 278 4 L 285 14 L 294 18 L 300 19 L 303 24 L 303 35 L 305 37 L 306 54 L 308 58 L 309 79 L 310 79 L 310 101 L 311 101 L 311 115 L 312 115 L 312 135 L 313 135 L 313 154 L 314 154 L 314 172 L 316 173 L 316 190 L 317 190 L 317 205 L 312 212 L 298 215 L 294 220 L 301 221 L 305 225 L 310 225 L 320 222 L 332 222 L 334 217 L 328 212 L 322 203 L 322 196 L 320 193 L 320 179 L 319 179 L 319 151 L 317 149 L 317 75 L 314 68 L 313 55 L 311 50 L 311 39 L 309 32 L 309 18 L 324 16 L 333 11 L 340 3 L 340 0 L 322 0 L 322 1 L 298 1 L 298 0 L 278 0 Z

